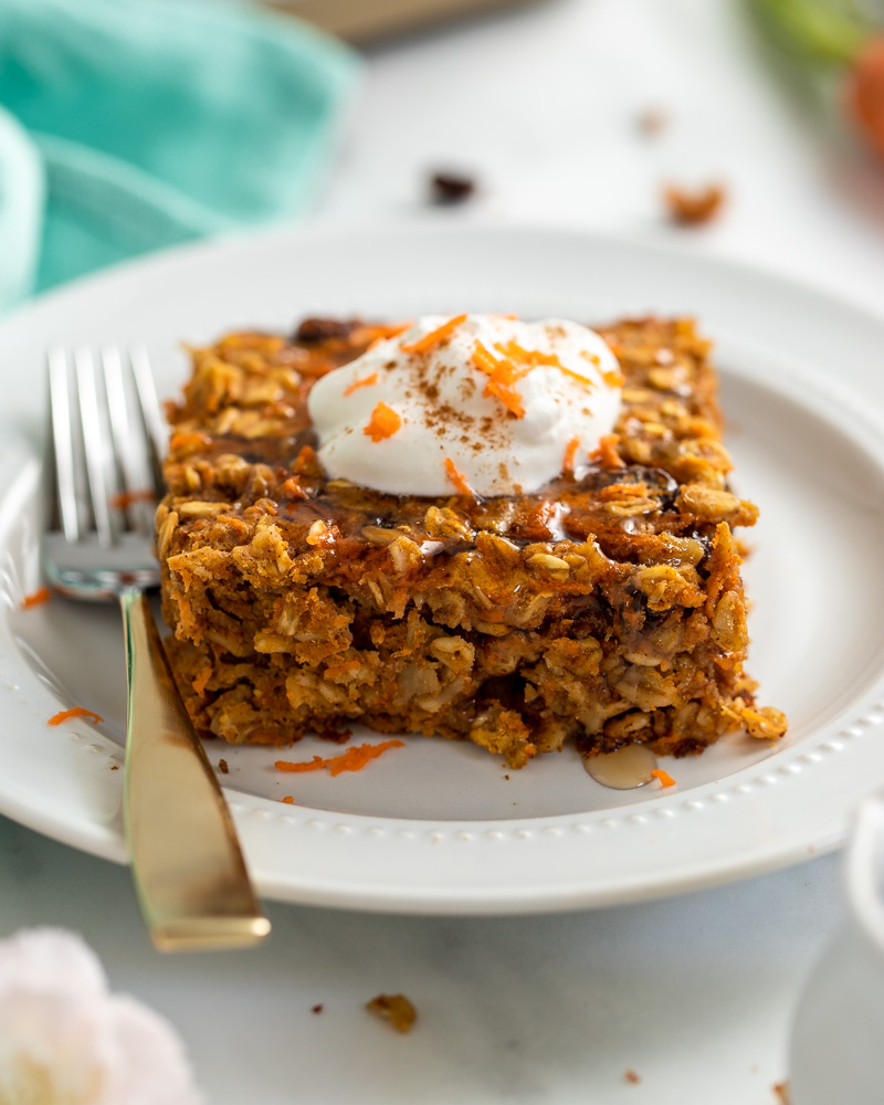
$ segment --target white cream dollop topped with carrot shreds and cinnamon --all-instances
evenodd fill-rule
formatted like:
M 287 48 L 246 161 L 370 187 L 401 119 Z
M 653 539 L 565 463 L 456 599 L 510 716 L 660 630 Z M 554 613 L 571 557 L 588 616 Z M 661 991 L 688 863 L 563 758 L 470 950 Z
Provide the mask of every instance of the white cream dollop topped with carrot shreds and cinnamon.
M 308 404 L 333 478 L 493 496 L 579 478 L 621 385 L 608 345 L 578 323 L 430 315 L 324 376 Z

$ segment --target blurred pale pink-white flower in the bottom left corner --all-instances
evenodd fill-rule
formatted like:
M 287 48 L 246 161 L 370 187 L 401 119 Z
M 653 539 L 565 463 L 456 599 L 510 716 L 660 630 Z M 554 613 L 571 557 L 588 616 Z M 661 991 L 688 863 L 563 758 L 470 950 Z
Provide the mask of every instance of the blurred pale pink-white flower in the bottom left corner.
M 200 1105 L 183 1048 L 73 933 L 0 940 L 0 1105 Z

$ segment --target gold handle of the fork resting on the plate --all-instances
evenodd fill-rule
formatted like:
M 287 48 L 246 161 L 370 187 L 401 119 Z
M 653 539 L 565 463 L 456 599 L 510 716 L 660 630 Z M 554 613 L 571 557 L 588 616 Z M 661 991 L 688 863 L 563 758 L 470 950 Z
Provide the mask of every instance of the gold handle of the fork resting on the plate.
M 164 951 L 233 948 L 270 932 L 233 820 L 175 685 L 146 596 L 119 597 L 129 685 L 125 820 L 141 913 Z

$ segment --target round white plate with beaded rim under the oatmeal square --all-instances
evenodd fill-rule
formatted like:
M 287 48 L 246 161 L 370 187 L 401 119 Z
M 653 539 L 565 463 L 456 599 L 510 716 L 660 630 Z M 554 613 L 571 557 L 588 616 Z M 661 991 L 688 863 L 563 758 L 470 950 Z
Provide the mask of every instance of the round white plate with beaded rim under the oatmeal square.
M 161 392 L 179 343 L 307 314 L 515 311 L 587 320 L 688 313 L 718 347 L 741 494 L 761 508 L 746 575 L 750 670 L 791 718 L 666 762 L 671 791 L 615 792 L 572 750 L 507 771 L 471 745 L 412 738 L 356 775 L 282 776 L 271 749 L 224 757 L 248 860 L 272 897 L 414 913 L 539 912 L 675 893 L 841 841 L 884 779 L 884 323 L 775 277 L 636 243 L 450 223 L 322 227 L 177 250 L 78 282 L 0 327 L 0 811 L 108 859 L 120 822 L 116 611 L 39 585 L 36 448 L 51 344 L 147 344 Z M 49 728 L 61 706 L 105 722 Z M 357 737 L 364 736 L 357 734 Z M 379 739 L 365 735 L 367 739 Z M 308 758 L 307 739 L 291 758 Z M 328 746 L 322 750 L 327 754 Z M 278 800 L 292 794 L 295 806 Z

